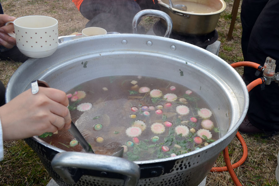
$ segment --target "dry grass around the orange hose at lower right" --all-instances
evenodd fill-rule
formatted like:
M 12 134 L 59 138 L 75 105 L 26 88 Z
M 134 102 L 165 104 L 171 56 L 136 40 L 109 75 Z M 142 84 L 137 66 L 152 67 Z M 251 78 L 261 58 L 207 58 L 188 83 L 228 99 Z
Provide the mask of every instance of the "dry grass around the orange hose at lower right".
M 262 135 L 241 134 L 248 147 L 248 157 L 244 164 L 234 169 L 238 179 L 246 186 L 278 185 L 275 178 L 279 136 L 263 139 Z M 242 146 L 235 137 L 228 146 L 231 163 L 242 157 Z M 224 158 L 219 157 L 215 166 L 226 166 Z M 207 175 L 207 186 L 233 186 L 228 172 L 210 172 Z

